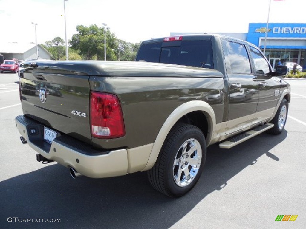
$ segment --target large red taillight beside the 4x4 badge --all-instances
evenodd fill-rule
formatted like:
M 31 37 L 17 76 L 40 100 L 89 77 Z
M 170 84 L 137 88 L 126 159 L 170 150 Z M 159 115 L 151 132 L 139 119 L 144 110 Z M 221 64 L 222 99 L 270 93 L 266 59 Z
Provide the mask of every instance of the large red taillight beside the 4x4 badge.
M 90 93 L 91 136 L 118 138 L 125 135 L 123 115 L 117 96 L 108 93 Z

